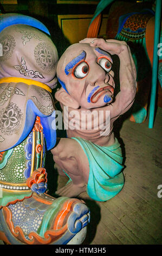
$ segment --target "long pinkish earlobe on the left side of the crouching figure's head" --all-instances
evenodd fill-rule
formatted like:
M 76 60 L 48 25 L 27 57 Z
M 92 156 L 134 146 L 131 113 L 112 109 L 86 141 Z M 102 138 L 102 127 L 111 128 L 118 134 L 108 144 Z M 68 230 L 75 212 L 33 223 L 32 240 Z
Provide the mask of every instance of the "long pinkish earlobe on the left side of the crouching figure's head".
M 64 106 L 72 107 L 75 109 L 80 107 L 79 103 L 63 88 L 57 90 L 57 92 L 55 93 L 55 98 L 56 100 L 60 101 Z

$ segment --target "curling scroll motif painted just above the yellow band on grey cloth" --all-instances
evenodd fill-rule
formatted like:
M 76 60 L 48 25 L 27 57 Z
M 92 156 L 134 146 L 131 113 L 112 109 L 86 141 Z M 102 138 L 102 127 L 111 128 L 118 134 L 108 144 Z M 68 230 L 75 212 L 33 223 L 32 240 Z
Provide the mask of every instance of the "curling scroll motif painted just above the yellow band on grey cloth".
M 24 75 L 24 76 L 29 76 L 30 78 L 36 78 L 36 77 L 40 77 L 40 78 L 45 78 L 40 72 L 38 71 L 33 71 L 33 70 L 28 70 L 27 66 L 25 65 L 26 62 L 24 60 L 24 57 L 22 57 L 21 59 L 21 65 L 15 65 L 14 68 L 16 70 L 18 70 L 20 72 L 20 74 Z

